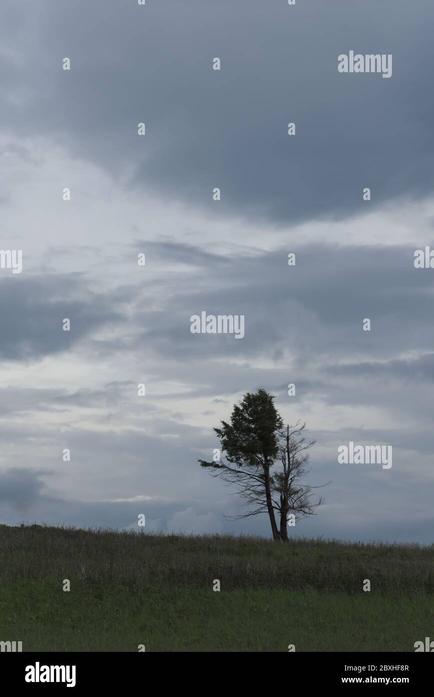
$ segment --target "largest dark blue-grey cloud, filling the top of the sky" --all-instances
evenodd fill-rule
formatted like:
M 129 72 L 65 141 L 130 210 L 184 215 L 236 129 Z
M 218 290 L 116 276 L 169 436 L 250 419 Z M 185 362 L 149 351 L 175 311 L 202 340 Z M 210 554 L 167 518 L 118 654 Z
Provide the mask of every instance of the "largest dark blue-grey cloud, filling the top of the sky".
M 283 223 L 432 190 L 431 0 L 6 4 L 5 128 L 138 190 Z M 339 74 L 350 49 L 392 54 L 392 77 Z

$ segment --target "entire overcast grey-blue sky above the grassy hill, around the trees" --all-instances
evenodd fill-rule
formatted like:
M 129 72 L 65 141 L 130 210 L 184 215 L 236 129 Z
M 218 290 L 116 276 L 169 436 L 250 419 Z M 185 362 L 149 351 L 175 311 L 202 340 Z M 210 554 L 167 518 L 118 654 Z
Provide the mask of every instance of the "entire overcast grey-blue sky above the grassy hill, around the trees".
M 268 536 L 197 462 L 264 387 L 316 438 L 307 483 L 332 482 L 292 534 L 433 541 L 433 21 L 432 0 L 3 0 L 0 522 Z M 339 73 L 351 50 L 392 77 Z M 245 336 L 192 334 L 202 311 Z M 349 441 L 392 468 L 338 464 Z

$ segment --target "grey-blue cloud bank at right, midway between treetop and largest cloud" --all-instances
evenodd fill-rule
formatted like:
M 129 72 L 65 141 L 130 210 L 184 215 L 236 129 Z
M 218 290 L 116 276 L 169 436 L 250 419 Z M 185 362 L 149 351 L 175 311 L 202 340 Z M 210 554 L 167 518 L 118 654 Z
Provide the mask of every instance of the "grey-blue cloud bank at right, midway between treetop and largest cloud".
M 160 246 L 163 255 L 165 245 Z M 291 243 L 289 249 L 296 252 L 296 266 L 288 266 L 287 250 L 277 250 L 231 254 L 218 269 L 212 259 L 203 261 L 185 282 L 176 274 L 169 277 L 162 309 L 137 305 L 135 323 L 143 328 L 138 346 L 145 342 L 165 358 L 248 360 L 264 351 L 279 358 L 289 350 L 300 362 L 357 353 L 391 358 L 397 348 L 431 349 L 434 328 L 426 321 L 432 316 L 431 278 L 415 269 L 412 247 Z M 191 334 L 190 318 L 202 310 L 243 314 L 245 337 Z M 371 332 L 362 330 L 365 318 L 371 319 Z

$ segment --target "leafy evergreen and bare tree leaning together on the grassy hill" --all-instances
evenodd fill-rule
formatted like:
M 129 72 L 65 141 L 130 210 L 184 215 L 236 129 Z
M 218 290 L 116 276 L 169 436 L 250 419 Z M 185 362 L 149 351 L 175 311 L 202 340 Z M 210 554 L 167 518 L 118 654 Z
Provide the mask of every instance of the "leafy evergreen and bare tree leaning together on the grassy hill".
M 214 431 L 226 462 L 222 459 L 199 462 L 200 466 L 213 470 L 214 476 L 234 484 L 239 496 L 246 500 L 249 510 L 228 519 L 268 513 L 273 539 L 287 540 L 289 515 L 294 514 L 296 521 L 314 514 L 314 509 L 322 503 L 321 497 L 318 502 L 310 503 L 313 487 L 299 484 L 307 473 L 306 450 L 314 445 L 314 441 L 305 441 L 305 424 L 300 426 L 298 422 L 294 427 L 284 427 L 273 395 L 262 388 L 244 395 L 241 403 L 234 406 L 230 423 L 221 424 L 222 428 Z M 275 512 L 280 514 L 280 530 Z

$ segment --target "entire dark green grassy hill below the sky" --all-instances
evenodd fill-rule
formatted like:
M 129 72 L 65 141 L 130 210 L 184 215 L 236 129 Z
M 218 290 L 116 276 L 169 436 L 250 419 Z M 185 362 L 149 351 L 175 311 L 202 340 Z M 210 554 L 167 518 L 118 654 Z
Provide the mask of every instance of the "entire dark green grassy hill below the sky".
M 0 641 L 23 651 L 414 651 L 434 632 L 434 545 L 33 525 L 0 526 L 0 558 Z

